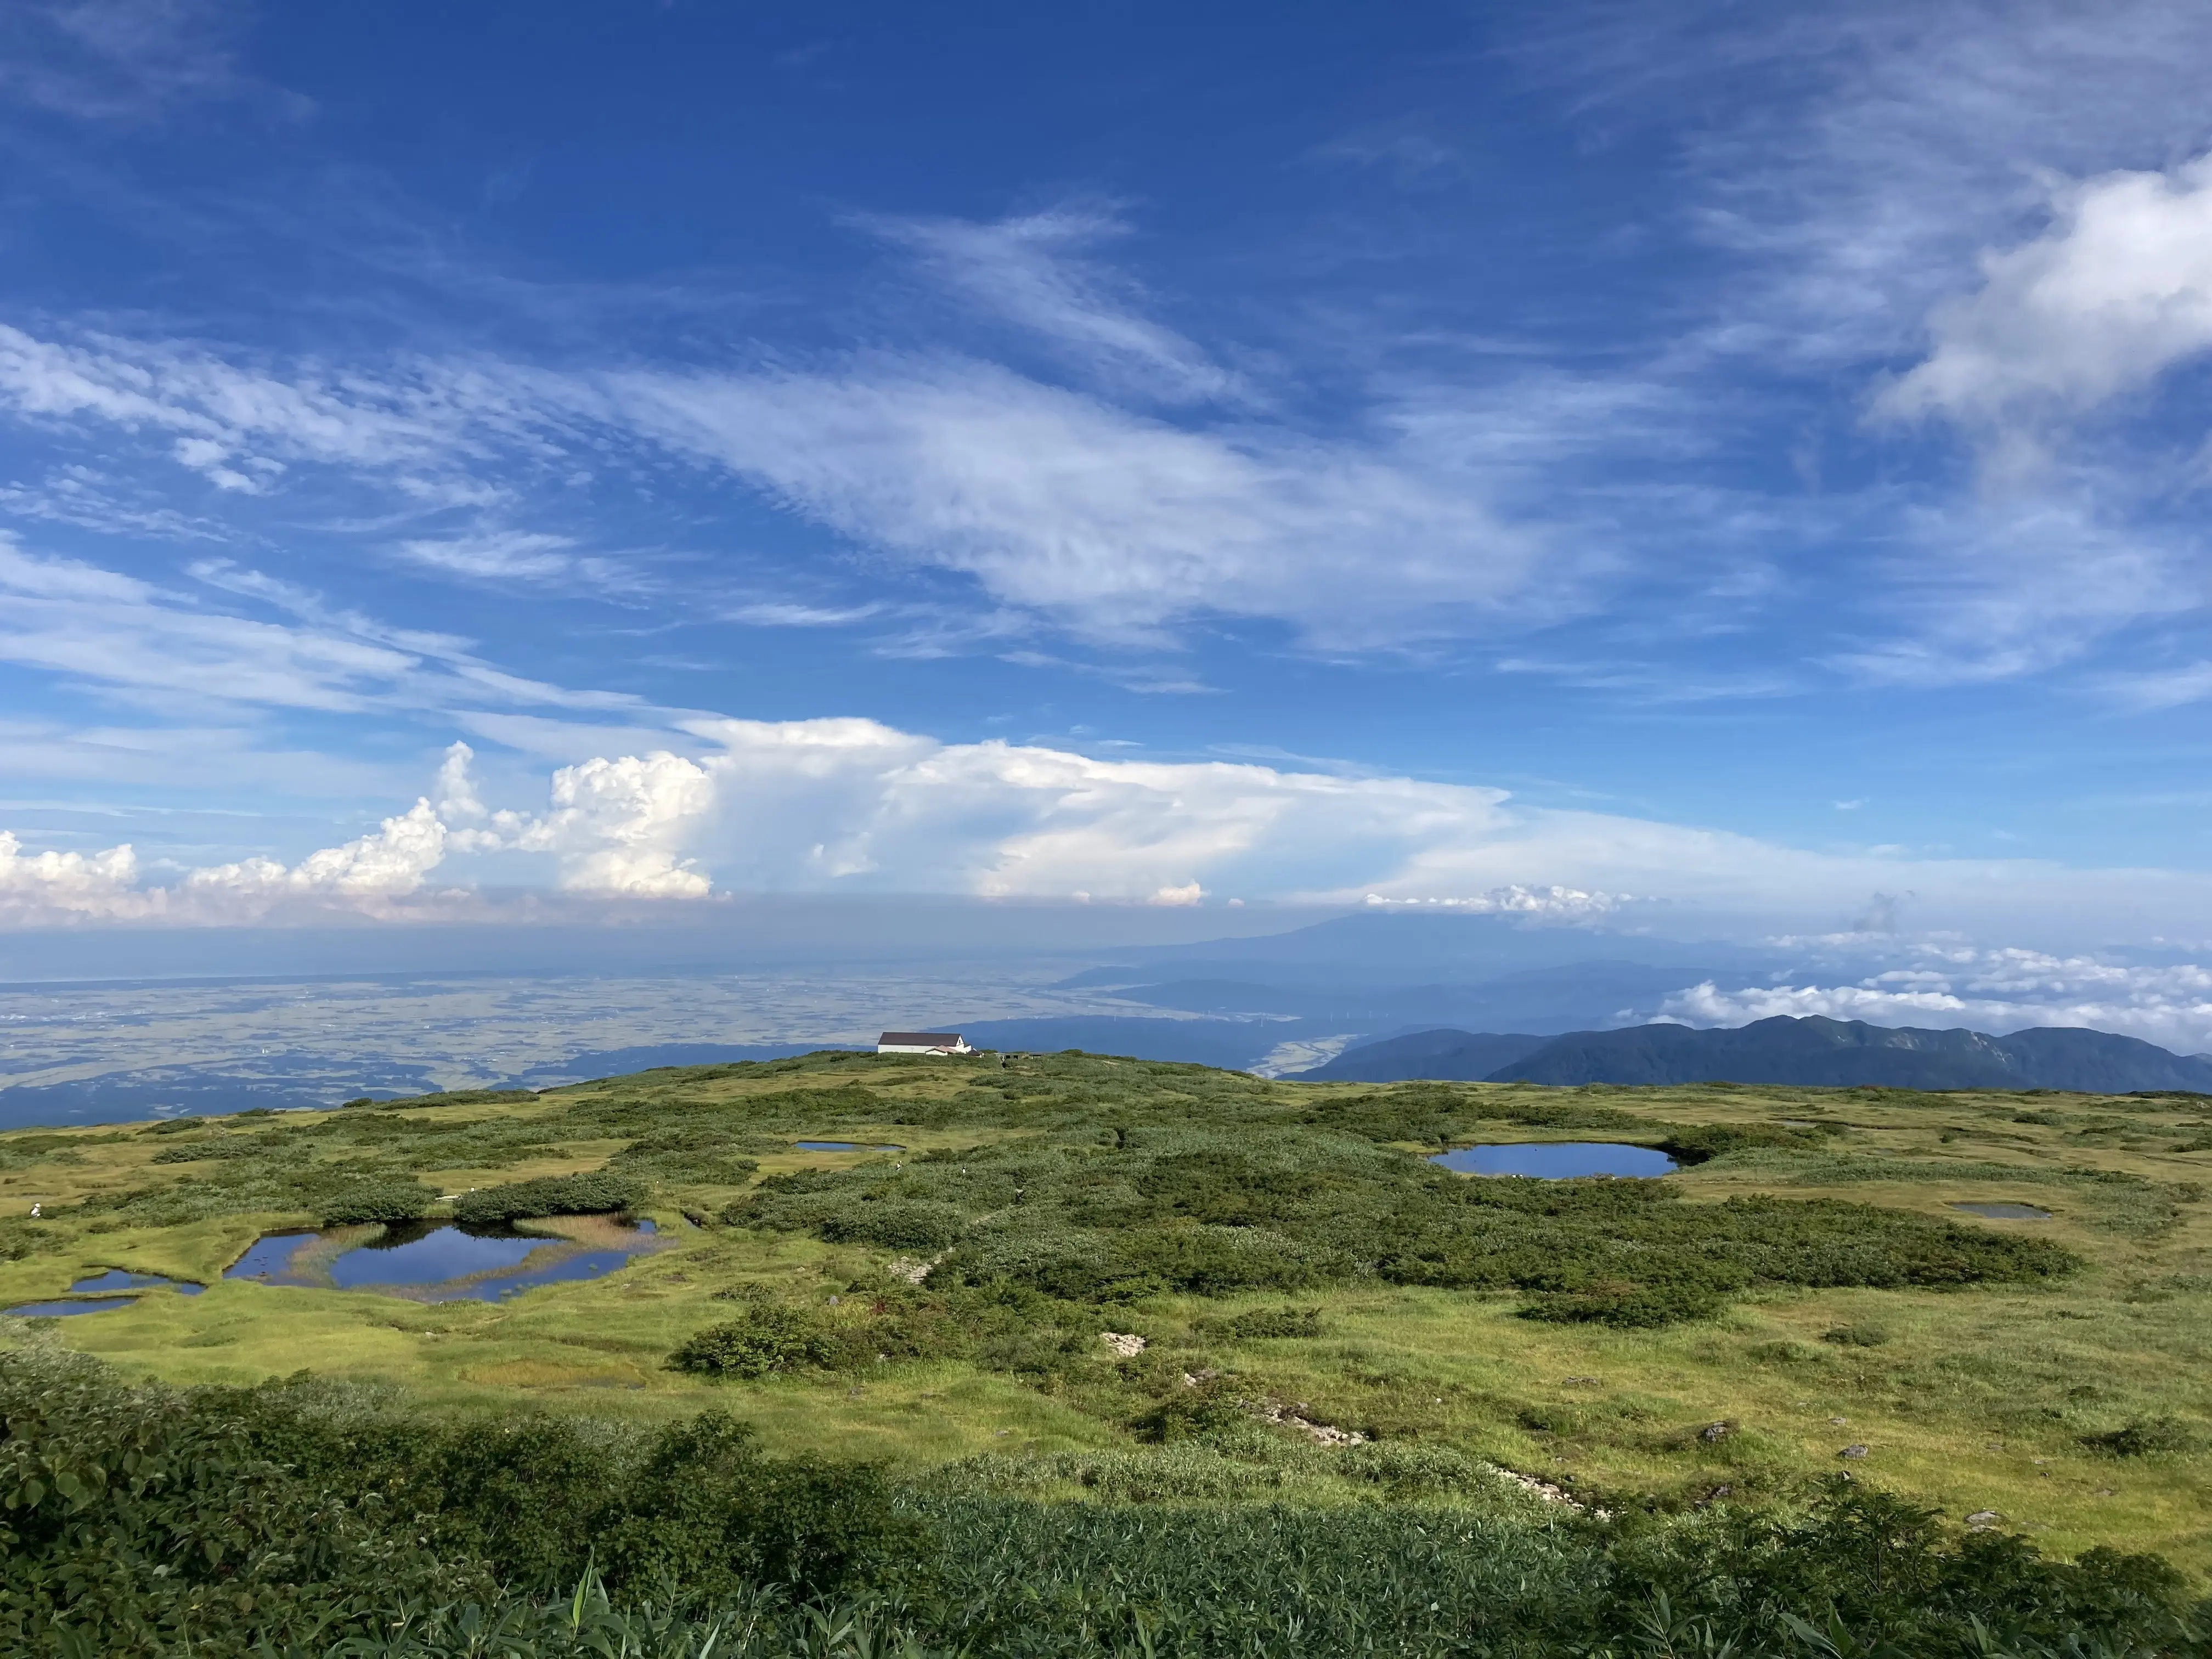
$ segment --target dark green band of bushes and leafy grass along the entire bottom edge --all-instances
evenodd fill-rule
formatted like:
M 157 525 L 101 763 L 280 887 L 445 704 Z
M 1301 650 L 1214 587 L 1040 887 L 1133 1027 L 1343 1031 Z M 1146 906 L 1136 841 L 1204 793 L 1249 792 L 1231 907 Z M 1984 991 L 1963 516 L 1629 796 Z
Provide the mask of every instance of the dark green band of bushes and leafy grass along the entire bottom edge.
M 721 1413 L 449 1422 L 314 1385 L 131 1389 L 51 1354 L 0 1356 L 0 1422 L 9 1655 L 2208 1652 L 2154 1557 L 2051 1562 L 1840 1480 L 1610 1522 L 1502 1482 L 1458 1506 L 900 1495 Z

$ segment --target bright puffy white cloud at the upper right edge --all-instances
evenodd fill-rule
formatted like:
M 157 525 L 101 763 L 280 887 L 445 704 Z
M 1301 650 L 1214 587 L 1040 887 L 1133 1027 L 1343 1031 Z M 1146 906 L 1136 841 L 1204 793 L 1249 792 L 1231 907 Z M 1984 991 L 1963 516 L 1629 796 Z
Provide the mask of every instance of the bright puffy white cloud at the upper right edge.
M 2042 237 L 1982 259 L 1929 319 L 1933 349 L 1878 411 L 2013 434 L 2212 349 L 2212 155 L 2057 186 Z

